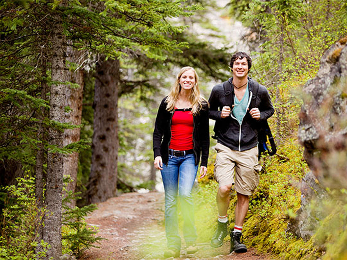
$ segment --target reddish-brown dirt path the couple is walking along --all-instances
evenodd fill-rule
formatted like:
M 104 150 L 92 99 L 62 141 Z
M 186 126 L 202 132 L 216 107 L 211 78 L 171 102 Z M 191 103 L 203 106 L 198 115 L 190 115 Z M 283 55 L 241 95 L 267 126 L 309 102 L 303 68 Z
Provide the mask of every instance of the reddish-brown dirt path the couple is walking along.
M 125 193 L 97 206 L 86 222 L 97 227 L 98 235 L 107 240 L 100 242 L 100 248 L 85 251 L 81 259 L 163 259 L 166 249 L 163 193 Z M 271 259 L 252 248 L 246 253 L 229 254 L 227 241 L 220 248 L 212 248 L 208 242 L 197 245 L 199 250 L 187 255 L 183 242 L 180 258 L 176 259 Z

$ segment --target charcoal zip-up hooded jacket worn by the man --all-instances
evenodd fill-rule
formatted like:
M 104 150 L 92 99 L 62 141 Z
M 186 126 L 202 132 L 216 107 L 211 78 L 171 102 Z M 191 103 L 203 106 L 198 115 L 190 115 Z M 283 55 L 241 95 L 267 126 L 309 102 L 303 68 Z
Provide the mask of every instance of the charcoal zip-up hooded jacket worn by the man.
M 248 150 L 257 146 L 259 123 L 261 120 L 268 119 L 274 113 L 274 108 L 271 103 L 269 92 L 264 86 L 259 85 L 257 95 L 255 96 L 253 94 L 254 85 L 257 83 L 252 78 L 248 77 L 248 109 L 241 124 L 232 115 L 228 116 L 227 118 L 221 118 L 220 115 L 223 106 L 234 104 L 235 93 L 232 85 L 232 78 L 230 78 L 228 81 L 232 86 L 230 93 L 231 100 L 227 102 L 223 84 L 214 86 L 209 98 L 209 117 L 216 120 L 215 124 L 218 124 L 218 128 L 216 130 L 218 142 L 232 150 Z M 249 113 L 253 107 L 257 107 L 260 111 L 259 120 L 253 119 Z M 232 107 L 230 108 L 232 110 Z

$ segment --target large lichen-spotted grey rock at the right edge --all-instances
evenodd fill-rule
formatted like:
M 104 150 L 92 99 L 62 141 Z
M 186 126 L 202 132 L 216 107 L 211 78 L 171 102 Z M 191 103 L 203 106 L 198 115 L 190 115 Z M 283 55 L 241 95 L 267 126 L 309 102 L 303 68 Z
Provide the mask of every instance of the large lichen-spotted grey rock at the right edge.
M 311 169 L 301 183 L 301 208 L 288 229 L 310 239 L 320 219 L 309 207 L 325 187 L 347 188 L 347 36 L 327 50 L 315 78 L 303 87 L 298 138 Z

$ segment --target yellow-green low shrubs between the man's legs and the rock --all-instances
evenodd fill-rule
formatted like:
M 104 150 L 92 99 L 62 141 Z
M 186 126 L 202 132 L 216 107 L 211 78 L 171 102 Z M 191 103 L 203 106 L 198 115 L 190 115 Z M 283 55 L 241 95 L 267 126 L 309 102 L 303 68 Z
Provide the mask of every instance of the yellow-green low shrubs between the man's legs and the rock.
M 301 206 L 297 184 L 308 171 L 302 151 L 295 139 L 289 139 L 279 147 L 278 156 L 263 158 L 260 183 L 251 196 L 251 214 L 245 223 L 244 236 L 250 245 L 286 259 L 293 257 L 288 248 L 296 242 L 287 234 L 287 224 Z M 300 246 L 310 249 L 304 243 Z

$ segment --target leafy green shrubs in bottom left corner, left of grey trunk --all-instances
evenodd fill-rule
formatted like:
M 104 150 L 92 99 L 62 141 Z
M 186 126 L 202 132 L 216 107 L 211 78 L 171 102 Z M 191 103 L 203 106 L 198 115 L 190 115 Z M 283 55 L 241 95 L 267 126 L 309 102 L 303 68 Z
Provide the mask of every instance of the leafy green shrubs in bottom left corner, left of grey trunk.
M 8 197 L 0 216 L 0 255 L 1 259 L 36 259 L 45 255 L 48 246 L 41 241 L 43 251 L 35 252 L 39 243 L 36 232 L 45 209 L 36 206 L 35 179 L 26 176 L 17 181 L 5 188 Z

